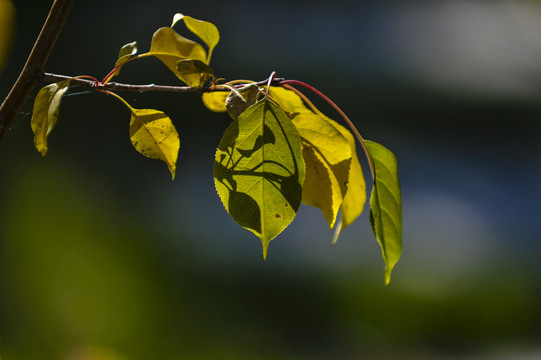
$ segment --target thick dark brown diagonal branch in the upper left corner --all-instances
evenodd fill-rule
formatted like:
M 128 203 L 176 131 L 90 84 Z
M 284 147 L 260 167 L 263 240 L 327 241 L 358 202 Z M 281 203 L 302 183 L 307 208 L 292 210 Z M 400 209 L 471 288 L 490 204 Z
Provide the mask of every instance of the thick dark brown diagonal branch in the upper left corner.
M 38 84 L 45 63 L 74 2 L 75 0 L 55 0 L 51 6 L 49 16 L 43 24 L 19 78 L 0 107 L 0 142 L 9 131 L 13 119 L 21 111 L 24 102 Z

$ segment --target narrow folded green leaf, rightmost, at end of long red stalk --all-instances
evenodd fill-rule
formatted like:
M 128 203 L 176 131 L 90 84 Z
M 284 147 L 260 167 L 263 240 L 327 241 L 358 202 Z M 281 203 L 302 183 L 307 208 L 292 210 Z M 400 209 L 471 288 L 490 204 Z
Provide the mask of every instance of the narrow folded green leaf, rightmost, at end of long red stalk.
M 393 153 L 380 144 L 364 140 L 374 169 L 370 197 L 370 223 L 385 260 L 385 284 L 402 253 L 402 195 Z

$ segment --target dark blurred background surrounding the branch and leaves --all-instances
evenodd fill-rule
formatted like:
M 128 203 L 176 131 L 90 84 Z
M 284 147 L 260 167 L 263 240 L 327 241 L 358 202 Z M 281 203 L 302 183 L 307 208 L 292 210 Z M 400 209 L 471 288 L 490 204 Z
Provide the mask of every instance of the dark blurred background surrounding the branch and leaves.
M 0 98 L 50 3 L 13 1 Z M 219 76 L 310 83 L 395 153 L 393 280 L 367 214 L 331 247 L 304 206 L 264 262 L 214 190 L 230 119 L 199 95 L 123 94 L 175 121 L 172 182 L 120 102 L 75 88 L 45 159 L 33 97 L 0 145 L 2 360 L 541 358 L 541 2 L 77 1 L 47 71 L 101 79 L 176 12 L 220 29 Z M 177 84 L 151 58 L 117 80 Z

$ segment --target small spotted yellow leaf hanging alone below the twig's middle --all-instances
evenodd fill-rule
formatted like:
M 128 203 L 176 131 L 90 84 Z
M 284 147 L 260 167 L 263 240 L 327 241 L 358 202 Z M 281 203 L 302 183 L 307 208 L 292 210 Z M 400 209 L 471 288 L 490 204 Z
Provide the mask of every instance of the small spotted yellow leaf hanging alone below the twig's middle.
M 154 109 L 130 107 L 130 110 L 130 140 L 133 147 L 149 158 L 165 162 L 174 179 L 180 140 L 171 119 Z

